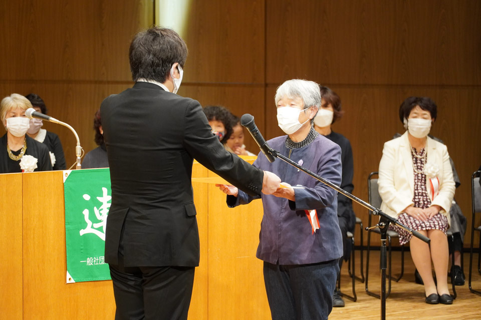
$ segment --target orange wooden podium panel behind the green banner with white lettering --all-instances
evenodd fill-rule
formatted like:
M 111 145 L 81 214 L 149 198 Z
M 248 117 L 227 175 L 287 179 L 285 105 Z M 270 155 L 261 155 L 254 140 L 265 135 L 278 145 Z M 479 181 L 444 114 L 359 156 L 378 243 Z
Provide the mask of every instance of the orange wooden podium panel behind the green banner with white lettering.
M 24 319 L 113 319 L 111 281 L 66 284 L 63 171 L 23 173 Z

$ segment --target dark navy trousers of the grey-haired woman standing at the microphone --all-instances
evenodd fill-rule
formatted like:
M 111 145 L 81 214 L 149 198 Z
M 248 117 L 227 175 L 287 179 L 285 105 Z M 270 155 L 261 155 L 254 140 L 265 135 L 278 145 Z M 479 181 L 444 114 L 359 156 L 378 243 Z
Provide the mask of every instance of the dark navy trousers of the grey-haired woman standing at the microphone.
M 338 272 L 338 259 L 300 265 L 264 262 L 264 283 L 272 319 L 327 319 Z

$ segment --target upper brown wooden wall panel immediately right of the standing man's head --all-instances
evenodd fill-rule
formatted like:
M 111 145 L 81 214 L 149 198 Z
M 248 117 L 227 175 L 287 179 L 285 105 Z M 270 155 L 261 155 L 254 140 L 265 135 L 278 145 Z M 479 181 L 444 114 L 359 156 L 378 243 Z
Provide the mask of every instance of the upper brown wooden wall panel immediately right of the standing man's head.
M 264 0 L 190 5 L 185 81 L 264 83 Z

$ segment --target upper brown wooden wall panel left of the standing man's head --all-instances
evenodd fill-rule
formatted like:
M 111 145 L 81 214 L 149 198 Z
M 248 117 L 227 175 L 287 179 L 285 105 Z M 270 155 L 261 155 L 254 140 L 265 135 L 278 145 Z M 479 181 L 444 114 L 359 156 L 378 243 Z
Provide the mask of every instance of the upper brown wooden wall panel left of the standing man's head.
M 130 80 L 130 40 L 152 21 L 148 0 L 22 0 L 8 12 L 10 57 L 0 63 L 13 72 L 0 77 L 15 80 Z

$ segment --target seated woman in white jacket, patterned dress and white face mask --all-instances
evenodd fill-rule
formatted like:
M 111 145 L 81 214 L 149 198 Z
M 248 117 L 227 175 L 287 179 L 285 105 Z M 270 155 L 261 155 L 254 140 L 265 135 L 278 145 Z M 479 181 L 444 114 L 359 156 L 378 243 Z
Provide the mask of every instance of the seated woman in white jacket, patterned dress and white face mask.
M 378 179 L 381 210 L 431 239 L 429 247 L 409 232 L 389 226 L 399 233 L 401 244 L 411 240 L 411 256 L 424 282 L 426 303 L 451 304 L 446 231 L 455 186 L 446 146 L 427 136 L 436 119 L 436 104 L 428 97 L 411 96 L 401 104 L 399 114 L 407 122 L 407 131 L 384 143 Z

